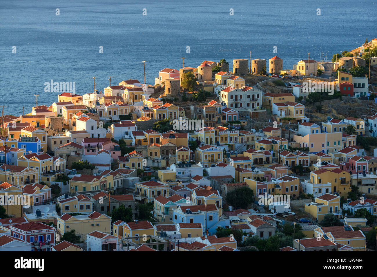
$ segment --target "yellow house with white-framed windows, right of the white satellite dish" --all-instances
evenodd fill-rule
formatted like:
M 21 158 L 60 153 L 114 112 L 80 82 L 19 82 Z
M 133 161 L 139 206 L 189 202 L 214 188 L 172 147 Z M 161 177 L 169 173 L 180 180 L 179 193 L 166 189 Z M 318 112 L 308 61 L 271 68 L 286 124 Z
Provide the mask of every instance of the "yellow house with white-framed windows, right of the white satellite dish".
M 83 194 L 78 194 L 69 198 L 60 196 L 58 198 L 58 206 L 62 213 L 92 213 L 93 201 Z

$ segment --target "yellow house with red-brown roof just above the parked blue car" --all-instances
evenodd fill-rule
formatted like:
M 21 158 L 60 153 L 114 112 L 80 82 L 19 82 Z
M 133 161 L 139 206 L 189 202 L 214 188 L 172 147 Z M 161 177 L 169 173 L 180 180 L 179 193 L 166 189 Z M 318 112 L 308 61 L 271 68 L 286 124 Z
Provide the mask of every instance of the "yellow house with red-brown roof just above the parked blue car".
M 305 204 L 305 212 L 309 213 L 316 222 L 321 222 L 327 213 L 333 213 L 337 218 L 342 217 L 340 212 L 340 196 L 325 193 L 318 196 L 309 204 Z

